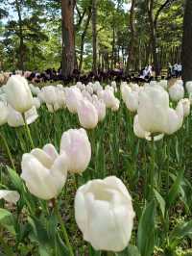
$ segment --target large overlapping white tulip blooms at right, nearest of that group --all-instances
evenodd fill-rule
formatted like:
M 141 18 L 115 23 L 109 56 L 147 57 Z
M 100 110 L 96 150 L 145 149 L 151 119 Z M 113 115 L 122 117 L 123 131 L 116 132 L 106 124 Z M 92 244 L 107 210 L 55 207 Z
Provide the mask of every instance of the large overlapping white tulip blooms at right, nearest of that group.
M 179 102 L 176 110 L 169 107 L 169 95 L 160 87 L 146 87 L 139 93 L 137 116 L 134 118 L 134 133 L 139 138 L 151 140 L 151 136 L 159 133 L 160 140 L 163 134 L 173 134 L 178 131 L 183 121 L 183 106 Z

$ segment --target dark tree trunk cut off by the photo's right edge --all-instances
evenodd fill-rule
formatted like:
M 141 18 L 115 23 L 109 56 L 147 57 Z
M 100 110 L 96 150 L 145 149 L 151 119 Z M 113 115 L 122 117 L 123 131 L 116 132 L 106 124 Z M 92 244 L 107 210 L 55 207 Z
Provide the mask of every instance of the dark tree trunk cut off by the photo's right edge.
M 192 0 L 186 0 L 182 37 L 182 79 L 192 81 Z

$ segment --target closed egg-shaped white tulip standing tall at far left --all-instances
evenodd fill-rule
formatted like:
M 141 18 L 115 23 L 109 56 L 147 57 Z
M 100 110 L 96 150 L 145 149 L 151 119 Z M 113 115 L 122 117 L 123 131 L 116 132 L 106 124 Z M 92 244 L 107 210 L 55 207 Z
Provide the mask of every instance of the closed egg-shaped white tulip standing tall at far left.
M 20 113 L 25 113 L 33 107 L 33 96 L 27 80 L 19 75 L 12 75 L 6 85 L 8 103 Z

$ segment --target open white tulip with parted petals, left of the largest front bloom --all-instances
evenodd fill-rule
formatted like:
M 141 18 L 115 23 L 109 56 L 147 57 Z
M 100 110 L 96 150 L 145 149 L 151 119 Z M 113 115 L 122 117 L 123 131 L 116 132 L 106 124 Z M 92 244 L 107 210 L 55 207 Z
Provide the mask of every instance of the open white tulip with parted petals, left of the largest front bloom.
M 21 178 L 32 194 L 49 200 L 57 197 L 65 184 L 67 163 L 64 152 L 59 156 L 52 144 L 46 144 L 23 155 Z

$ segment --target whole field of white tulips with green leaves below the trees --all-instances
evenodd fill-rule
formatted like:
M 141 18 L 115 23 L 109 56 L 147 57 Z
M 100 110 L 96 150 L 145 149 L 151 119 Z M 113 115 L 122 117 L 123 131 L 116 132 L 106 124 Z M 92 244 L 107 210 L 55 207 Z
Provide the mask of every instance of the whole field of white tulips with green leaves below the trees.
M 179 79 L 12 75 L 0 87 L 0 255 L 192 255 L 191 93 Z

